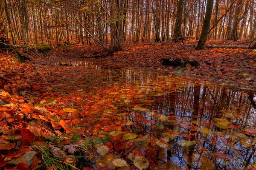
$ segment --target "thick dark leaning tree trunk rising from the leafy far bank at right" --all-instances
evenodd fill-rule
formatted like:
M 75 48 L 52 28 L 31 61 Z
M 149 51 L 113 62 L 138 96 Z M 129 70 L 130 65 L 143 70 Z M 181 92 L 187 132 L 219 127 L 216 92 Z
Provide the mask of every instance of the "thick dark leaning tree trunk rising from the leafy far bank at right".
M 196 49 L 204 49 L 204 45 L 208 37 L 208 31 L 209 31 L 211 17 L 212 17 L 212 7 L 213 7 L 213 0 L 207 0 L 206 13 L 205 13 L 204 23 L 202 27 L 202 33 Z

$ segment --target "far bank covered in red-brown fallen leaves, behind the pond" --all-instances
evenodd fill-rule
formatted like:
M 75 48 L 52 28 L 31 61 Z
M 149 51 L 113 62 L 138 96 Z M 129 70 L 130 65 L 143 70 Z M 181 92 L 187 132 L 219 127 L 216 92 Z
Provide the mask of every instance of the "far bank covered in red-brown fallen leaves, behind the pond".
M 199 77 L 213 84 L 227 85 L 244 90 L 256 89 L 256 51 L 240 48 L 205 48 L 196 50 L 186 44 L 196 44 L 197 41 L 167 42 L 164 45 L 155 42 L 126 43 L 122 51 L 114 52 L 107 57 L 93 58 L 100 54 L 98 46 L 73 45 L 55 48 L 49 52 L 55 57 L 83 57 L 88 62 L 114 63 L 123 66 L 154 68 L 160 71 L 175 73 L 189 77 Z M 249 45 L 249 41 L 207 41 L 207 45 Z M 193 67 L 162 65 L 162 59 L 181 59 L 197 61 L 200 65 Z

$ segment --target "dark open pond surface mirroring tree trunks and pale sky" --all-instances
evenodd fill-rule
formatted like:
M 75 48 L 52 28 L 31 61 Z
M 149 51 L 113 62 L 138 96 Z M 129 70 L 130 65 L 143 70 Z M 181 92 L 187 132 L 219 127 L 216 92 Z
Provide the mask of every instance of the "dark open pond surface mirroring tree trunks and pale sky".
M 60 63 L 56 63 L 59 65 Z M 192 169 L 198 169 L 201 158 L 200 147 L 208 150 L 207 155 L 212 157 L 212 153 L 224 153 L 231 158 L 236 158 L 227 164 L 222 159 L 215 159 L 217 169 L 234 169 L 243 168 L 245 164 L 253 163 L 255 156 L 250 156 L 253 153 L 251 147 L 246 148 L 237 141 L 235 144 L 229 144 L 227 141 L 235 140 L 237 137 L 236 130 L 224 130 L 213 125 L 212 120 L 217 118 L 228 119 L 232 124 L 239 125 L 241 128 L 255 127 L 256 109 L 253 108 L 249 94 L 235 91 L 233 89 L 224 88 L 221 86 L 204 85 L 194 83 L 191 79 L 185 79 L 174 75 L 161 75 L 154 71 L 144 71 L 136 68 L 116 68 L 114 66 L 101 66 L 82 61 L 65 61 L 61 64 L 77 66 L 81 69 L 79 74 L 88 74 L 87 79 L 93 77 L 94 82 L 102 85 L 101 88 L 115 86 L 125 95 L 123 89 L 137 90 L 143 94 L 142 98 L 134 99 L 138 104 L 143 105 L 152 110 L 150 116 L 148 113 L 140 111 L 131 111 L 133 106 L 126 104 L 129 115 L 127 120 L 133 121 L 133 125 L 128 127 L 128 130 L 134 132 L 137 128 L 143 128 L 139 133 L 143 135 L 154 135 L 157 138 L 163 137 L 162 133 L 166 130 L 174 130 L 179 133 L 191 133 L 188 129 L 182 127 L 182 123 L 193 122 L 198 128 L 207 127 L 209 124 L 210 130 L 213 132 L 208 136 L 204 136 L 201 132 L 194 137 L 196 144 L 191 150 L 186 150 L 177 143 L 183 138 L 176 136 L 173 141 L 170 141 L 171 150 L 162 149 L 159 152 L 166 154 L 166 158 L 162 162 L 172 161 L 177 164 L 185 165 L 188 159 L 192 161 Z M 92 72 L 93 71 L 93 72 Z M 102 77 L 104 75 L 104 77 Z M 76 82 L 79 83 L 79 82 Z M 253 96 L 254 100 L 256 97 Z M 145 105 L 143 100 L 154 100 L 151 105 Z M 175 117 L 174 124 L 172 120 L 166 122 L 157 119 L 159 115 Z M 140 118 L 141 119 L 138 119 Z M 137 121 L 138 120 L 138 121 Z M 152 122 L 143 122 L 143 120 L 151 120 Z M 203 122 L 203 124 L 202 124 Z M 162 126 L 160 126 L 162 125 Z M 240 132 L 239 132 L 240 133 Z M 255 139 L 253 139 L 255 140 Z M 194 153 L 194 157 L 191 158 Z M 168 159 L 167 155 L 170 155 Z M 248 160 L 250 157 L 250 160 Z

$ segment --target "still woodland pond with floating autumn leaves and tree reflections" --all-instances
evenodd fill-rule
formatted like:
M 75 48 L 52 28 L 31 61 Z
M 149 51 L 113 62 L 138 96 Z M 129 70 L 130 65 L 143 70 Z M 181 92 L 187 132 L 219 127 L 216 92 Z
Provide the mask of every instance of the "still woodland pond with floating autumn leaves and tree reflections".
M 140 68 L 84 61 L 54 67 L 59 78 L 52 87 L 78 110 L 67 126 L 90 139 L 83 166 L 241 170 L 255 164 L 253 93 Z

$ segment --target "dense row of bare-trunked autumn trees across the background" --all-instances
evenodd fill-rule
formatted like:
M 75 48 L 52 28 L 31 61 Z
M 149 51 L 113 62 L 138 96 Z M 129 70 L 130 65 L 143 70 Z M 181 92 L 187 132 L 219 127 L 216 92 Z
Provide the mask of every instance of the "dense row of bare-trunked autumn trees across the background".
M 237 41 L 256 34 L 255 0 L 1 0 L 0 11 L 14 45 L 97 43 L 116 51 L 127 41 Z

